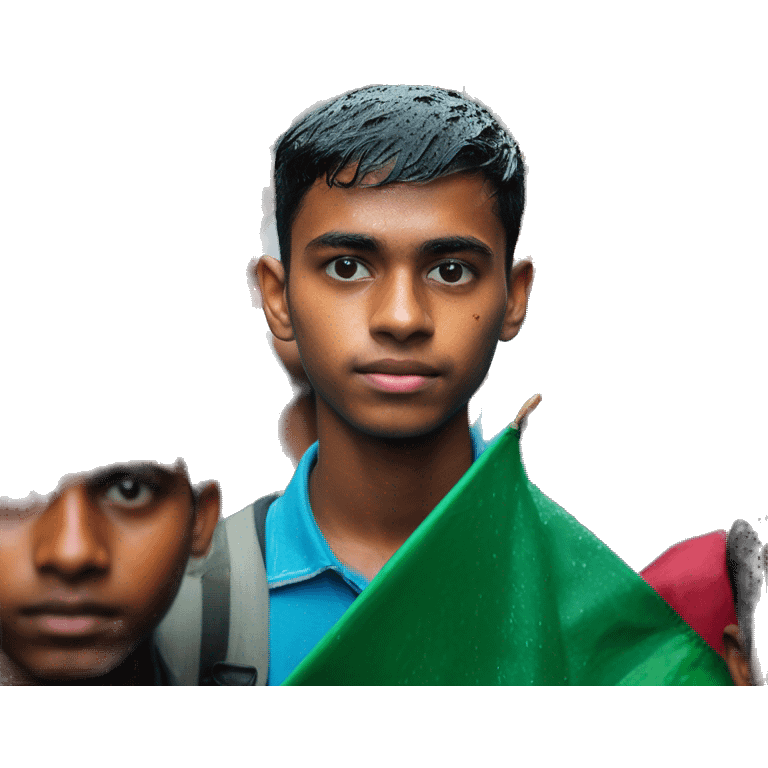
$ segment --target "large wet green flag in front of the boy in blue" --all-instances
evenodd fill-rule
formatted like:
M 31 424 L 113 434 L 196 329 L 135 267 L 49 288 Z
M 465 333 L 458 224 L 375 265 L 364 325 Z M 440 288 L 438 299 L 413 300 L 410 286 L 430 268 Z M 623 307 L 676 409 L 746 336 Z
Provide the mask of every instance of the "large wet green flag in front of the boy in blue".
M 584 485 L 585 502 L 602 498 Z M 725 662 L 529 480 L 514 425 L 283 685 L 732 685 Z

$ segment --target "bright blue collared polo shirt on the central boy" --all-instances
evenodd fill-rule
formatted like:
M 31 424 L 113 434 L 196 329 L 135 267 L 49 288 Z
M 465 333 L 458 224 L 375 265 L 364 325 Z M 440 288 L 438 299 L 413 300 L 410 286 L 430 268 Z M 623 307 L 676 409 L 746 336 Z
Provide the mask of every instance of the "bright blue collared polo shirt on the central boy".
M 473 462 L 501 436 L 484 440 L 480 419 L 469 432 Z M 336 558 L 309 506 L 309 474 L 318 446 L 307 449 L 267 513 L 269 685 L 288 677 L 369 583 Z

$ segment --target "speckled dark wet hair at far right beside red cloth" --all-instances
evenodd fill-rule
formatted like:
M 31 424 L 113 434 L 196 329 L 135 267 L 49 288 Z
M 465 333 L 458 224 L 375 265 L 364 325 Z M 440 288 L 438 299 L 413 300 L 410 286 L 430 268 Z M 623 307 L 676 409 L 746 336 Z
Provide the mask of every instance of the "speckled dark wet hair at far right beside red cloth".
M 725 562 L 748 658 L 755 645 L 754 616 L 763 583 L 761 571 L 768 570 L 768 548 L 763 547 L 762 567 L 759 550 L 760 539 L 752 526 L 746 520 L 736 520 L 728 531 Z

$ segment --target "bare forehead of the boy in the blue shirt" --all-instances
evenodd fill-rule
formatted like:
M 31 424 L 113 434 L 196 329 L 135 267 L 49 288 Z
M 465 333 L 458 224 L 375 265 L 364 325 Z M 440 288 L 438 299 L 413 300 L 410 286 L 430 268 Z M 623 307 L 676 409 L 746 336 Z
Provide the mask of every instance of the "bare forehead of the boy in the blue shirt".
M 354 169 L 337 179 L 351 180 Z M 315 181 L 293 225 L 297 251 L 331 230 L 366 232 L 384 241 L 416 243 L 442 235 L 473 235 L 503 252 L 505 233 L 496 212 L 492 185 L 480 174 L 455 173 L 427 183 L 395 182 L 364 186 L 386 177 L 368 174 L 363 186 L 329 188 L 325 176 Z

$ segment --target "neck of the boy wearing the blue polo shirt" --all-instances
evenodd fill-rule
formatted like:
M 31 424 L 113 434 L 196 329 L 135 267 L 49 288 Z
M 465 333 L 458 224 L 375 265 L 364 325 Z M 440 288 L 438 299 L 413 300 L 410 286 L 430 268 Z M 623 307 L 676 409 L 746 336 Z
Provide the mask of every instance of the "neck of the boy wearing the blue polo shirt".
M 321 398 L 317 412 L 315 521 L 337 556 L 341 547 L 386 561 L 472 465 L 469 405 L 434 432 L 402 439 L 354 429 Z

